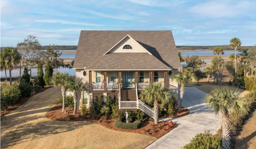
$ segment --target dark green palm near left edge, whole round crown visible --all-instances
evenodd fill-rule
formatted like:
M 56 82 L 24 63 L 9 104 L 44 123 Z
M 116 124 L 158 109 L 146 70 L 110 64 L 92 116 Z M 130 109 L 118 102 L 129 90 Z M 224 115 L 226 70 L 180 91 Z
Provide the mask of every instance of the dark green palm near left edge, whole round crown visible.
M 6 47 L 4 49 L 4 53 L 6 56 L 6 68 L 9 69 L 10 75 L 10 85 L 12 84 L 12 69 L 14 66 L 18 65 L 21 60 L 21 55 L 19 54 L 18 50 L 11 47 Z

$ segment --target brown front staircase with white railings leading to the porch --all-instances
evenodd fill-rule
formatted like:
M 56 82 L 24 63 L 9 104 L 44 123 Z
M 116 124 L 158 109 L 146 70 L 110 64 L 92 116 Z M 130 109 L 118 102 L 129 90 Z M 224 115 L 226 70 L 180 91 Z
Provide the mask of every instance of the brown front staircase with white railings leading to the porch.
M 135 88 L 122 88 L 119 91 L 119 109 L 139 109 L 154 118 L 153 108 L 138 99 L 137 84 Z

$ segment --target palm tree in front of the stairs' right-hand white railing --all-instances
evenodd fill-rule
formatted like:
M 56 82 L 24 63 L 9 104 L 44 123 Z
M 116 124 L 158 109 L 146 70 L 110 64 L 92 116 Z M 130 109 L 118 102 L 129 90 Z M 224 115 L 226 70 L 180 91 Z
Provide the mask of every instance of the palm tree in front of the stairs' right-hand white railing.
M 142 102 L 153 103 L 154 102 L 154 119 L 155 124 L 158 124 L 158 103 L 167 103 L 170 100 L 170 91 L 163 86 L 162 83 L 150 83 L 139 94 L 139 98 Z

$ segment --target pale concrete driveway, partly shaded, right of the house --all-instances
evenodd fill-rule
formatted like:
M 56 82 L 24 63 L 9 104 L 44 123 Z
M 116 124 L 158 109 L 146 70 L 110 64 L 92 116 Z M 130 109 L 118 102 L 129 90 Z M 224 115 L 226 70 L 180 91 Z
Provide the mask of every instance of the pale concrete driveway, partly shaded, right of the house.
M 221 115 L 215 116 L 212 110 L 202 103 L 205 94 L 196 87 L 185 87 L 182 107 L 188 108 L 190 113 L 184 117 L 171 119 L 178 124 L 178 127 L 150 144 L 146 149 L 180 149 L 196 134 L 204 130 L 210 130 L 212 133 L 219 130 Z M 165 120 L 168 121 L 168 119 Z

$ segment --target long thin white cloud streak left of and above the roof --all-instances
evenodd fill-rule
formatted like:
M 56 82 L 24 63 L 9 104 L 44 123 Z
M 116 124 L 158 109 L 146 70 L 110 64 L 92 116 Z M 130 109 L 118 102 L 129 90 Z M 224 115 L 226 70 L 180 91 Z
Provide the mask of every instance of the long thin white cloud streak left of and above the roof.
M 82 23 L 82 22 L 71 22 L 71 21 L 54 20 L 54 19 L 35 20 L 34 22 L 60 23 L 60 24 L 71 24 L 71 25 L 87 25 L 87 26 L 105 26 L 105 25 L 100 25 L 100 24 L 90 24 L 90 23 Z

